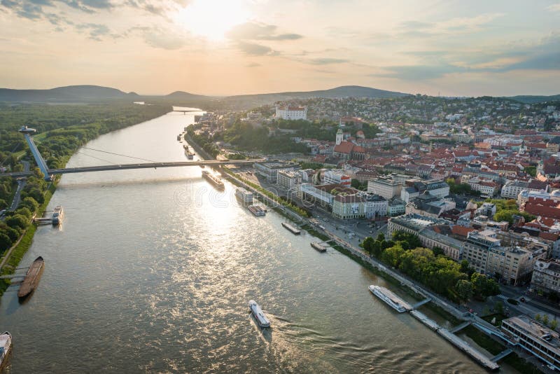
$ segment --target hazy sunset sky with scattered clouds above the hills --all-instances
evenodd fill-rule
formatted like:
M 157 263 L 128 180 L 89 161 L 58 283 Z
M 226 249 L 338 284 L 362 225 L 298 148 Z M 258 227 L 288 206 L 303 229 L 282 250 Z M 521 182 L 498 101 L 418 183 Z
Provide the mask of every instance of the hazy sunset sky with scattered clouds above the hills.
M 0 0 L 0 87 L 560 94 L 560 0 Z

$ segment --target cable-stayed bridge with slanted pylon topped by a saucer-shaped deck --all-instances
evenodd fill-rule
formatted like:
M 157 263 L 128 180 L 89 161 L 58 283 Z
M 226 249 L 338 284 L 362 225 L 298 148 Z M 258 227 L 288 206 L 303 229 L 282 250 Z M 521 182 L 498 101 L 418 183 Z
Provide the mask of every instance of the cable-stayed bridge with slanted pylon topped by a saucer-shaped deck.
M 126 169 L 158 169 L 158 167 L 184 167 L 184 166 L 219 166 L 219 165 L 251 165 L 254 162 L 262 160 L 197 160 L 197 161 L 174 161 L 174 162 L 143 162 L 134 164 L 115 164 L 115 165 L 101 165 L 101 166 L 84 166 L 84 167 L 66 167 L 64 169 L 49 169 L 43 156 L 39 153 L 37 146 L 35 145 L 33 139 L 31 139 L 31 134 L 36 132 L 35 129 L 30 129 L 27 126 L 22 127 L 20 130 L 25 136 L 25 140 L 31 149 L 31 154 L 35 158 L 39 169 L 45 175 L 45 180 L 50 181 L 53 175 L 56 174 L 71 174 L 71 173 L 84 173 L 84 172 L 106 172 L 109 170 L 126 170 Z M 85 148 L 85 147 L 84 147 Z M 92 148 L 87 148 L 92 149 Z M 99 151 L 93 149 L 93 151 Z M 111 153 L 113 155 L 119 155 L 118 153 L 99 151 L 104 153 Z M 129 158 L 136 158 L 127 155 L 121 155 Z M 140 160 L 145 160 L 144 158 L 137 158 Z M 149 161 L 149 160 L 148 160 Z M 22 177 L 30 176 L 32 172 L 13 172 L 2 174 L 2 176 L 13 176 Z

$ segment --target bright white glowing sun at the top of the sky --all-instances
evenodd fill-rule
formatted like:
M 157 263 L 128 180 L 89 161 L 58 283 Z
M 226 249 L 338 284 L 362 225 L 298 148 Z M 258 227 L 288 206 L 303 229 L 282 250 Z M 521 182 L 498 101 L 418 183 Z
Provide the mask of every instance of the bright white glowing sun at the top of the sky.
M 194 0 L 178 15 L 190 32 L 214 41 L 225 39 L 232 27 L 247 20 L 247 8 L 239 0 Z

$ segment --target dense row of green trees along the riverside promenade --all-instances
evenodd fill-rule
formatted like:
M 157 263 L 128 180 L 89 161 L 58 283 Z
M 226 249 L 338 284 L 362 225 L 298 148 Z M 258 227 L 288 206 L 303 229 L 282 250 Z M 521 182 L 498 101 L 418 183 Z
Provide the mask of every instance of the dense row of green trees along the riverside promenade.
M 391 240 L 385 240 L 380 233 L 375 240 L 366 237 L 362 247 L 370 256 L 451 300 L 467 301 L 473 296 L 484 300 L 500 291 L 496 281 L 474 272 L 467 261 L 456 263 L 441 249 L 422 248 L 416 235 L 395 231 Z

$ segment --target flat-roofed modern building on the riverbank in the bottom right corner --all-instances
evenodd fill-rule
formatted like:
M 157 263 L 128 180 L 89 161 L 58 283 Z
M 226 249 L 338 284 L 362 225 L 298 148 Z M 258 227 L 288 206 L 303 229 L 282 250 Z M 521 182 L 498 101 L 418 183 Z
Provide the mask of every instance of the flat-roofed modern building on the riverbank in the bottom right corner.
M 560 337 L 556 331 L 524 314 L 504 319 L 501 330 L 512 344 L 560 370 Z

